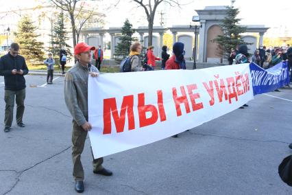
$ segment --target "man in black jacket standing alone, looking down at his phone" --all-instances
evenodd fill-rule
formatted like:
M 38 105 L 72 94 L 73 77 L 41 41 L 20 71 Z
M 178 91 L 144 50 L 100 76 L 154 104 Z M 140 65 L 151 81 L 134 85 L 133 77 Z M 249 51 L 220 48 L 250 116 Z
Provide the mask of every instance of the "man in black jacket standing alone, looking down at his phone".
M 16 100 L 16 122 L 20 127 L 23 124 L 24 100 L 25 100 L 25 78 L 28 73 L 25 58 L 19 56 L 19 44 L 12 43 L 10 51 L 0 58 L 0 76 L 4 76 L 5 82 L 5 132 L 9 132 L 13 120 L 14 99 Z

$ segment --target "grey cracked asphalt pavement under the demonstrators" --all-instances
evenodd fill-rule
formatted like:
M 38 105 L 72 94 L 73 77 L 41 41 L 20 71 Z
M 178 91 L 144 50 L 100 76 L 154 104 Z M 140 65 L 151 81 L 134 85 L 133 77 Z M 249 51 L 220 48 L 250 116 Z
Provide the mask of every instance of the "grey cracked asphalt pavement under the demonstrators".
M 25 78 L 26 127 L 16 126 L 14 118 L 4 133 L 0 77 L 0 194 L 77 194 L 64 78 L 52 85 L 45 76 Z M 84 194 L 292 194 L 278 176 L 278 165 L 292 153 L 292 90 L 280 91 L 257 95 L 249 107 L 178 138 L 105 157 L 104 166 L 114 172 L 110 177 L 93 174 L 87 139 Z

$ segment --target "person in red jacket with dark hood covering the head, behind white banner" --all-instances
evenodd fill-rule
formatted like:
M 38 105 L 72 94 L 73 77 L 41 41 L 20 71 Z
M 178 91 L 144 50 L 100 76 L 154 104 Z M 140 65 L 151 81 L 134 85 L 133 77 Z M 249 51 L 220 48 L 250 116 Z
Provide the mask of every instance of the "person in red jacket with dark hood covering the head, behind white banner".
M 173 44 L 173 55 L 166 62 L 165 69 L 186 69 L 186 60 L 184 60 L 184 43 L 176 42 Z M 178 134 L 172 137 L 178 137 Z

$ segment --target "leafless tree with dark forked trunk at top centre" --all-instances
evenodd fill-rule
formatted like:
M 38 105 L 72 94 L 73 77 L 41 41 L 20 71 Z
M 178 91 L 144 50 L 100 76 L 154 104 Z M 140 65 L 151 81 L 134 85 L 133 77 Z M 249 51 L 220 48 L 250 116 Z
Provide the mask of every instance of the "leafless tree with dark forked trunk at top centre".
M 152 32 L 153 32 L 153 25 L 154 25 L 154 16 L 155 12 L 157 10 L 158 5 L 162 3 L 163 1 L 166 3 L 169 3 L 172 7 L 178 6 L 180 7 L 179 1 L 176 0 L 133 0 L 134 2 L 138 3 L 138 7 L 142 7 L 145 10 L 145 13 L 147 15 L 147 21 L 148 21 L 148 45 L 152 45 Z

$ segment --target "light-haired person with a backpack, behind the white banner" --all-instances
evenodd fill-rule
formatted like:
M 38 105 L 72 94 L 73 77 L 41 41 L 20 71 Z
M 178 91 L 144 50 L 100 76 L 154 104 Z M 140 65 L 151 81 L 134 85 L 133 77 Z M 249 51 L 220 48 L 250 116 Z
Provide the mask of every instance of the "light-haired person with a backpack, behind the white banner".
M 141 43 L 134 43 L 130 47 L 129 56 L 130 56 L 130 63 L 131 63 L 132 71 L 143 71 L 144 70 L 142 67 L 142 62 L 141 62 L 141 58 L 140 58 L 141 50 L 142 50 Z

